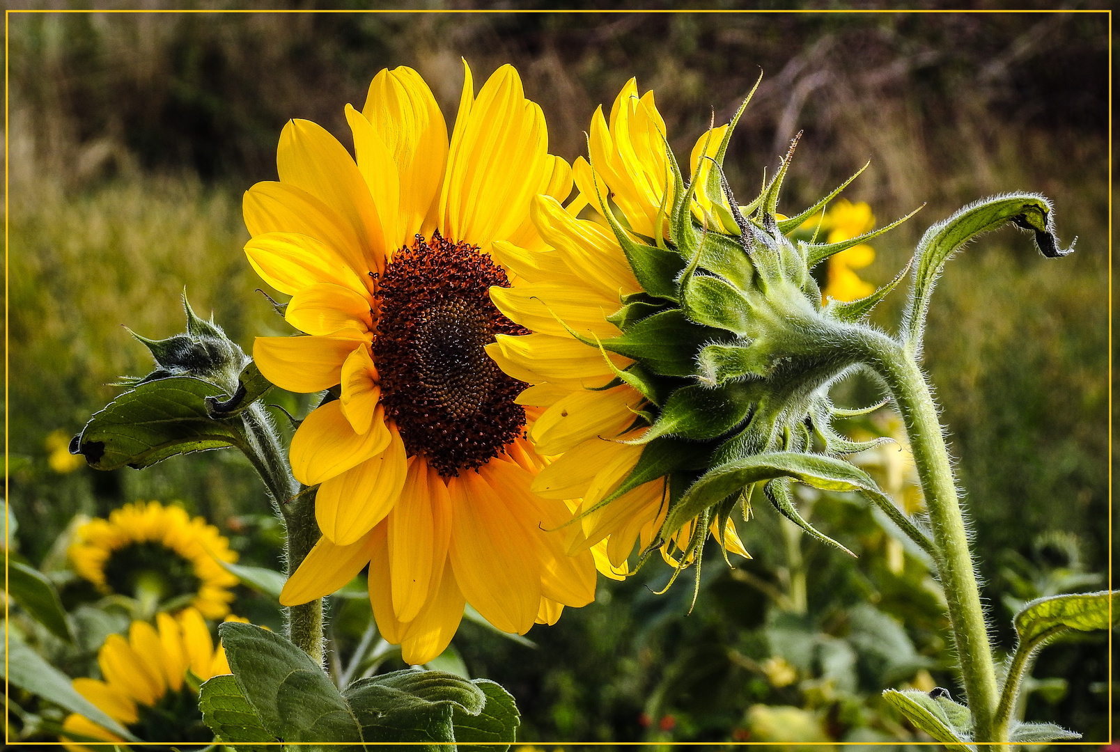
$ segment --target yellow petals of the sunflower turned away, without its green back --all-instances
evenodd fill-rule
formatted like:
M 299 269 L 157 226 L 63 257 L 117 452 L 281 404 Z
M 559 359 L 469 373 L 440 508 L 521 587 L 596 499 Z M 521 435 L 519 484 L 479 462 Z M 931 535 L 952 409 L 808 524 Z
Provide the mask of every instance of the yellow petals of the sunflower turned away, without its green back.
M 727 132 L 722 125 L 697 141 L 693 181 L 707 181 L 711 162 L 701 156 L 716 154 Z M 582 198 L 599 207 L 598 197 L 609 192 L 633 232 L 650 243 L 668 232 L 666 207 L 673 200 L 663 133 L 653 93 L 637 96 L 631 79 L 615 100 L 609 125 L 601 107 L 591 120 L 594 170 L 582 158 L 575 168 Z M 726 205 L 726 199 L 698 191 L 693 214 L 724 232 L 713 205 Z M 540 472 L 533 490 L 549 499 L 581 498 L 581 535 L 572 538 L 572 551 L 607 538 L 607 558 L 622 571 L 635 544 L 645 551 L 657 539 L 668 514 L 668 489 L 659 478 L 600 504 L 642 454 L 642 445 L 627 442 L 644 433 L 645 423 L 636 416 L 648 410 L 648 402 L 619 378 L 634 361 L 594 342 L 618 336 L 615 322 L 625 314 L 623 300 L 641 297 L 642 285 L 605 223 L 578 219 L 550 196 L 534 199 L 532 218 L 551 248 L 495 243 L 493 255 L 515 279 L 510 288 L 491 289 L 498 310 L 531 333 L 498 333 L 486 350 L 505 374 L 531 385 L 517 397 L 526 408 L 542 411 L 529 438 L 540 453 L 560 455 Z M 666 536 L 661 553 L 670 564 L 691 561 L 678 555 L 689 548 L 694 521 Z M 712 523 L 710 533 L 727 551 L 747 556 L 730 519 L 722 529 Z

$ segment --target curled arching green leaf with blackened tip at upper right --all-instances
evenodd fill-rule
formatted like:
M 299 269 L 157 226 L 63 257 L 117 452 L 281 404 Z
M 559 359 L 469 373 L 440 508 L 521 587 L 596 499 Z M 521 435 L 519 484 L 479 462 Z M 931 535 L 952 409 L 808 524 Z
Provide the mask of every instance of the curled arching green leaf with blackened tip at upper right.
M 1034 232 L 1035 245 L 1049 258 L 1073 253 L 1072 244 L 1065 251 L 1058 248 L 1057 237 L 1054 234 L 1053 207 L 1044 196 L 1010 194 L 986 198 L 965 206 L 925 231 L 914 252 L 916 265 L 911 307 L 903 319 L 907 345 L 916 347 L 922 338 L 930 295 L 950 256 L 980 235 L 1008 223 Z

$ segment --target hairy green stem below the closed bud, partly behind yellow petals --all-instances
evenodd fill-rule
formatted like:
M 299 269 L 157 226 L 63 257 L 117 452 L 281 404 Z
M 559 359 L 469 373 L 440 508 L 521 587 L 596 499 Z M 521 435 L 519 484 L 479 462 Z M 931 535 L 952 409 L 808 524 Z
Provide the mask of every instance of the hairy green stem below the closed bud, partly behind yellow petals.
M 264 407 L 253 404 L 242 413 L 249 448 L 243 450 L 253 463 L 283 519 L 288 537 L 284 574 L 291 576 L 319 539 L 315 520 L 315 491 L 306 489 L 291 476 L 280 438 L 269 422 Z M 317 664 L 323 664 L 323 599 L 284 609 L 284 630 Z

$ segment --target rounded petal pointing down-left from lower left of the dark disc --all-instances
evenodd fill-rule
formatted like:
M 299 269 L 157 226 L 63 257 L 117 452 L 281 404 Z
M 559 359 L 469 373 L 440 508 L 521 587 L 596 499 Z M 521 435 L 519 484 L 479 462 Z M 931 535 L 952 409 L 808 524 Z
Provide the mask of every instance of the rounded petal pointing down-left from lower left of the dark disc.
M 374 423 L 385 426 L 382 412 L 379 405 Z M 357 540 L 384 519 L 401 496 L 408 472 L 404 442 L 396 426 L 389 425 L 386 431 L 390 439 L 383 451 L 319 486 L 315 518 L 323 535 L 340 546 Z

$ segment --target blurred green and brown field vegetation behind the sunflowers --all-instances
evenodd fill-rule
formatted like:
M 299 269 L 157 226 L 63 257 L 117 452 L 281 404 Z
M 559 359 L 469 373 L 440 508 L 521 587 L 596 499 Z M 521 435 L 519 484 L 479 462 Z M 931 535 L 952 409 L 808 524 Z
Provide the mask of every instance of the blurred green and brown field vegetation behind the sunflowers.
M 764 70 L 728 153 L 732 186 L 748 195 L 799 130 L 790 213 L 870 159 L 846 196 L 868 201 L 879 224 L 925 204 L 874 243 L 877 260 L 860 274 L 876 283 L 925 227 L 969 201 L 1017 189 L 1052 198 L 1077 252 L 1045 260 L 1026 236 L 1001 231 L 952 261 L 925 364 L 968 494 L 998 647 L 1014 646 L 1016 603 L 1103 586 L 1105 16 L 49 13 L 9 24 L 8 480 L 13 543 L 32 563 L 62 566 L 75 515 L 153 498 L 206 516 L 243 563 L 277 564 L 277 526 L 240 455 L 99 473 L 67 466 L 60 446 L 114 396 L 108 384 L 149 370 L 147 350 L 120 325 L 148 337 L 181 330 L 184 289 L 246 351 L 254 336 L 286 330 L 254 292 L 240 200 L 276 179 L 289 118 L 348 144 L 343 105 L 361 106 L 380 68 L 409 65 L 451 122 L 465 57 L 476 82 L 513 63 L 544 110 L 550 150 L 569 161 L 585 151 L 594 109 L 609 110 L 631 76 L 656 91 L 684 156 Z M 900 298 L 877 312 L 885 328 Z M 852 405 L 877 398 L 867 379 L 838 389 Z M 277 401 L 299 408 L 295 397 Z M 896 427 L 879 414 L 852 430 Z M 880 477 L 894 472 L 900 489 L 898 457 L 865 460 L 883 466 Z M 473 676 L 517 698 L 526 741 L 916 739 L 878 695 L 934 684 L 959 695 L 937 588 L 865 506 L 840 496 L 801 502 L 860 558 L 791 535 L 759 504 L 739 525 L 754 558 L 734 571 L 708 562 L 691 613 L 683 579 L 653 594 L 668 579 L 657 565 L 601 582 L 597 603 L 530 632 L 535 648 L 469 622 L 455 645 Z M 239 613 L 279 626 L 263 598 L 239 592 Z M 364 601 L 345 601 L 336 643 L 353 645 L 367 622 Z M 1105 638 L 1043 654 L 1032 720 L 1104 740 Z

